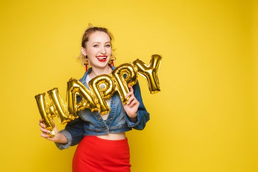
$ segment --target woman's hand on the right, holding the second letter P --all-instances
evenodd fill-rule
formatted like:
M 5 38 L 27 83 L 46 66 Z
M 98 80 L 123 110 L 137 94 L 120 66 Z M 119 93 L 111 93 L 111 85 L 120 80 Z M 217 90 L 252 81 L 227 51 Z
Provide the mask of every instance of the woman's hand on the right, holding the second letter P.
M 140 102 L 136 99 L 136 97 L 134 96 L 134 89 L 132 86 L 128 85 L 128 88 L 130 90 L 130 92 L 127 93 L 127 95 L 125 96 L 125 98 L 131 96 L 127 102 L 126 105 L 123 104 L 124 110 L 126 112 L 126 114 L 130 117 L 130 118 L 135 118 L 137 116 L 137 111 L 138 111 L 138 107 L 140 105 Z

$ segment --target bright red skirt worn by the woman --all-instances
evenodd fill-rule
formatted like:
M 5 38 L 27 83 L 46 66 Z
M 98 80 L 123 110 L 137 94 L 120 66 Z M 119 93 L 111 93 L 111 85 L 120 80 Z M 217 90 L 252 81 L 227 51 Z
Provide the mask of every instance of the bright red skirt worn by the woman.
M 127 138 L 106 140 L 85 136 L 73 157 L 73 172 L 130 172 Z

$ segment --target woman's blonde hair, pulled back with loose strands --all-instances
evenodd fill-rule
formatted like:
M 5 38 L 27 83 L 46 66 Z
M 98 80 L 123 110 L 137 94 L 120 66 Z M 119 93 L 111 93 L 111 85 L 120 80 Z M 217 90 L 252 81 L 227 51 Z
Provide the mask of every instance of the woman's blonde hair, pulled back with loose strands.
M 113 46 L 112 46 L 112 41 L 114 40 L 114 37 L 112 35 L 112 33 L 107 29 L 107 28 L 102 28 L 102 27 L 94 27 L 93 25 L 91 25 L 90 23 L 88 24 L 88 27 L 87 29 L 85 30 L 84 34 L 83 34 L 83 39 L 82 39 L 82 47 L 83 48 L 86 48 L 86 42 L 88 41 L 89 39 L 89 36 L 91 33 L 95 32 L 95 31 L 103 31 L 105 33 L 107 33 L 110 37 L 110 41 L 111 41 L 111 47 L 112 47 L 112 55 L 113 55 L 113 52 L 115 51 L 113 49 Z M 78 62 L 80 62 L 82 65 L 84 64 L 89 64 L 89 61 L 88 59 L 82 54 L 82 52 L 80 53 L 80 55 L 76 58 L 76 60 Z

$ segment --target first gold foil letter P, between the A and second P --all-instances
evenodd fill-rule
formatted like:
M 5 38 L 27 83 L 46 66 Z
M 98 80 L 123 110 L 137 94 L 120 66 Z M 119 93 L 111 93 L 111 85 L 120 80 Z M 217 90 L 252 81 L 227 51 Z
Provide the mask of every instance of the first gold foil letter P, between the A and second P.
M 115 92 L 115 82 L 111 76 L 103 74 L 89 81 L 89 87 L 93 90 L 99 104 L 99 113 L 107 114 L 110 111 L 105 99 L 110 98 Z

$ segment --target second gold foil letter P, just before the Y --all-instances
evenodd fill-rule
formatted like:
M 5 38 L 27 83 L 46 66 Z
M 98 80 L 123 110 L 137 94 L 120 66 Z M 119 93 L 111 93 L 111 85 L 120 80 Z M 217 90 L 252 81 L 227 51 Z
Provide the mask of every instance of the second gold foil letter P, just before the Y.
M 129 92 L 127 85 L 133 86 L 137 82 L 137 72 L 131 63 L 125 63 L 117 66 L 112 75 L 115 79 L 116 89 L 125 105 L 130 97 L 125 99 L 126 94 Z

